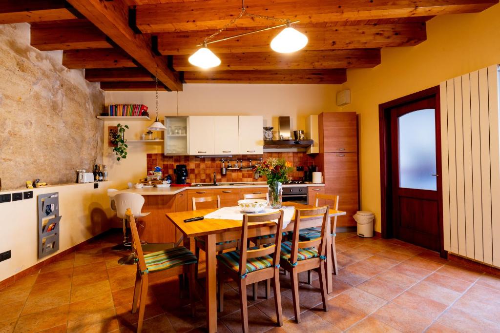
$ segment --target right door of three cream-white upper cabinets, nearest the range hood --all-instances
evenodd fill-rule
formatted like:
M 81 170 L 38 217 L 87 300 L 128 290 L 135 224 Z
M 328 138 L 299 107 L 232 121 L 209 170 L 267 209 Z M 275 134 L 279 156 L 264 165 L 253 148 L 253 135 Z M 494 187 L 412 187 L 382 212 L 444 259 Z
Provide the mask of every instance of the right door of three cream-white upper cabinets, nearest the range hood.
M 262 116 L 239 116 L 239 153 L 263 154 Z

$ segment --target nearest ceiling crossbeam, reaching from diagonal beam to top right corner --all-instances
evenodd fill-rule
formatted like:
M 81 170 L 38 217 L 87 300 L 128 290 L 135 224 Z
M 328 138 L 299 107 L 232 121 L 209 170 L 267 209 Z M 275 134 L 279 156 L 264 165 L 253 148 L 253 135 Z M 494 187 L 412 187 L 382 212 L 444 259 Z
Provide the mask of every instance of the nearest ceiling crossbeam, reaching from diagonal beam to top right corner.
M 168 1 L 139 5 L 136 26 L 142 32 L 219 29 L 239 13 L 237 1 Z M 300 23 L 428 16 L 478 12 L 498 0 L 252 0 L 249 13 L 300 20 Z M 242 17 L 239 27 L 271 25 L 265 19 Z

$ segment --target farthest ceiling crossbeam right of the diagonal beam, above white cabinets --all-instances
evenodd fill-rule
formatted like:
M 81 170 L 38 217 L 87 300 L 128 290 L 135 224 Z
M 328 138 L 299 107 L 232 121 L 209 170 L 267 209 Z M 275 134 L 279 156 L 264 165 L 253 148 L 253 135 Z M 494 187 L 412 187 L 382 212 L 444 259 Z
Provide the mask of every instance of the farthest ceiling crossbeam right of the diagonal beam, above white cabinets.
M 186 83 L 342 84 L 345 69 L 221 70 L 185 72 Z

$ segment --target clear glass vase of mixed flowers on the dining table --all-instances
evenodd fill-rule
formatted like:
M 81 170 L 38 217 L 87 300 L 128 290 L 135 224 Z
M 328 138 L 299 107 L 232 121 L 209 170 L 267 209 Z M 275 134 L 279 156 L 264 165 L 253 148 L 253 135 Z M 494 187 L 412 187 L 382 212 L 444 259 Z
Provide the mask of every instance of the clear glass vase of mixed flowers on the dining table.
M 253 167 L 253 171 L 267 178 L 269 187 L 269 206 L 280 208 L 283 203 L 282 183 L 288 180 L 288 173 L 293 170 L 291 162 L 282 158 L 268 158 Z

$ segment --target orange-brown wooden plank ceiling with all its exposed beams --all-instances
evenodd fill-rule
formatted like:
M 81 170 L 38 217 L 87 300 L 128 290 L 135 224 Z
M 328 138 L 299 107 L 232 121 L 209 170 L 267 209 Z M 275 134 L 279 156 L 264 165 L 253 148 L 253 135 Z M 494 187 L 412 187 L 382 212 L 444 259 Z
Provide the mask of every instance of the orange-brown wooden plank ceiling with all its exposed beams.
M 246 0 L 250 13 L 300 20 L 304 49 L 273 52 L 267 30 L 210 44 L 221 65 L 199 70 L 196 44 L 239 13 L 239 0 L 0 0 L 0 24 L 31 23 L 31 45 L 63 50 L 68 68 L 104 90 L 182 90 L 182 83 L 323 83 L 380 63 L 382 47 L 413 46 L 435 15 L 479 12 L 498 0 Z M 242 17 L 216 39 L 273 25 Z

